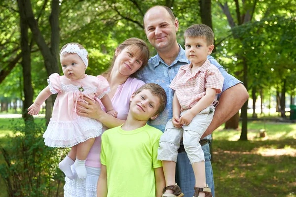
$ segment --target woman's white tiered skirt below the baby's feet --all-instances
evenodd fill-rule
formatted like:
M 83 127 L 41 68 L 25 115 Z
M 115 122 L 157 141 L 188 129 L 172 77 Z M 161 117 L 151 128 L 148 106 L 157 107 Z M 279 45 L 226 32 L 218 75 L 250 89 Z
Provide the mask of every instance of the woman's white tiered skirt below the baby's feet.
M 85 180 L 78 178 L 76 171 L 71 166 L 74 179 L 65 177 L 64 197 L 97 197 L 97 183 L 101 173 L 100 167 L 85 166 L 87 176 Z

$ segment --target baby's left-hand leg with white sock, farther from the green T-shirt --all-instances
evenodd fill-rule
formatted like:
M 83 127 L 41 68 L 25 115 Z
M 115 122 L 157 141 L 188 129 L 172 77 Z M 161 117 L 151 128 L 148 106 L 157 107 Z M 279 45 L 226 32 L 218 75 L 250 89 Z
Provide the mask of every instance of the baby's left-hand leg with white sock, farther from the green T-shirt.
M 71 165 L 73 165 L 75 161 L 76 148 L 76 146 L 73 146 L 68 155 L 59 163 L 59 168 L 71 180 L 74 179 L 74 174 L 72 173 Z

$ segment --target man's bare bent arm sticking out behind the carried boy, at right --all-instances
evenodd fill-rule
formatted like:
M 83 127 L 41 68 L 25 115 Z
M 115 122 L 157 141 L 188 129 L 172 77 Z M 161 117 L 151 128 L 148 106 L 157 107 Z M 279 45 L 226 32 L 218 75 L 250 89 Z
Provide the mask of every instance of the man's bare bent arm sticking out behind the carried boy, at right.
M 243 84 L 239 83 L 225 90 L 215 109 L 213 121 L 201 136 L 201 139 L 211 134 L 220 125 L 229 120 L 243 106 L 249 94 Z

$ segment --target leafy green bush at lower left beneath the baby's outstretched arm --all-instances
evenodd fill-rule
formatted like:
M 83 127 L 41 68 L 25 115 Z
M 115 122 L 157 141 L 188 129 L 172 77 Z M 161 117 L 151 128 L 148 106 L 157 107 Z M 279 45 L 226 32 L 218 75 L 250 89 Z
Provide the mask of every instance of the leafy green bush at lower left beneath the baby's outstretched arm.
M 58 163 L 66 150 L 44 145 L 43 125 L 15 125 L 9 142 L 0 146 L 4 159 L 0 175 L 10 197 L 52 197 L 59 193 L 64 175 Z

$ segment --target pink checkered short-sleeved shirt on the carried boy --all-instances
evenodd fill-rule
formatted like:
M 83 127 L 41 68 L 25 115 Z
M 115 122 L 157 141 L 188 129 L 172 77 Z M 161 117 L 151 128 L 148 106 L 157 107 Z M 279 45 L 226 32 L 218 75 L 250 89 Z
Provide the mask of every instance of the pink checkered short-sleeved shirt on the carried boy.
M 179 100 L 181 111 L 191 109 L 202 97 L 206 95 L 206 88 L 216 89 L 219 94 L 222 91 L 224 78 L 219 69 L 212 65 L 209 60 L 198 67 L 191 74 L 191 64 L 181 66 L 178 74 L 173 79 L 170 88 L 175 90 Z M 211 104 L 218 104 L 217 97 Z

